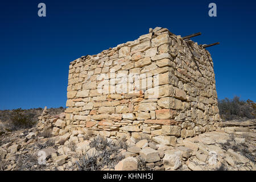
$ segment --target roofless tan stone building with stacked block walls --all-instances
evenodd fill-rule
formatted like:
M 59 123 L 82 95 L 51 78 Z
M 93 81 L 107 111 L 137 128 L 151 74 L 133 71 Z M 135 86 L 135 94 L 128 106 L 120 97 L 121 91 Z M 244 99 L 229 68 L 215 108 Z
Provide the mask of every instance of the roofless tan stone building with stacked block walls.
M 210 53 L 166 28 L 72 61 L 67 91 L 62 133 L 92 130 L 175 146 L 220 121 Z

